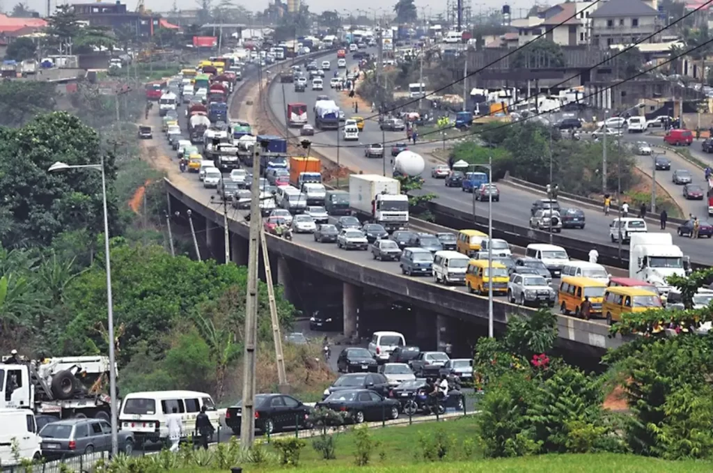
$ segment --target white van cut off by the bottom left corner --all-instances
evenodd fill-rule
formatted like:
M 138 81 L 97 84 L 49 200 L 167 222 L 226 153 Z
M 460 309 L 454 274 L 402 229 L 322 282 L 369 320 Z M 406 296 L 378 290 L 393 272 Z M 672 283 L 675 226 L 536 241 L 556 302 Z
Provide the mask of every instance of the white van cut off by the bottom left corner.
M 41 458 L 42 437 L 37 432 L 35 414 L 31 410 L 0 409 L 0 425 L 0 464 L 3 467 Z

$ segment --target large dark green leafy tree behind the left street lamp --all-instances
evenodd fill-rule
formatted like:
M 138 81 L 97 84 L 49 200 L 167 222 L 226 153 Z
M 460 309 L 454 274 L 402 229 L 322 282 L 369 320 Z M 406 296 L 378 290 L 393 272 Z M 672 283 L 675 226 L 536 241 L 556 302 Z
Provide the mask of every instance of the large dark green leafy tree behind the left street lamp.
M 68 164 L 101 162 L 98 135 L 75 116 L 53 112 L 36 116 L 18 129 L 0 128 L 0 188 L 11 199 L 0 201 L 0 215 L 11 220 L 0 228 L 7 247 L 49 245 L 66 230 L 103 232 L 101 174 L 91 170 L 49 173 L 58 159 Z M 21 156 L 22 158 L 18 158 Z M 114 158 L 104 158 L 108 179 L 109 222 L 118 233 L 118 210 L 111 195 Z M 0 220 L 7 221 L 7 220 Z

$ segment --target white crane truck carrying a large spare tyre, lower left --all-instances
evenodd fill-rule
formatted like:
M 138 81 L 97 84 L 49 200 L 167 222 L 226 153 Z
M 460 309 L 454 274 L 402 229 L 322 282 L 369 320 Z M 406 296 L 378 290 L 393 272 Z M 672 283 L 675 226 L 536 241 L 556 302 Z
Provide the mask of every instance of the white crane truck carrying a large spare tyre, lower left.
M 60 419 L 111 419 L 106 395 L 109 359 L 103 356 L 19 360 L 0 365 L 0 409 L 30 409 Z

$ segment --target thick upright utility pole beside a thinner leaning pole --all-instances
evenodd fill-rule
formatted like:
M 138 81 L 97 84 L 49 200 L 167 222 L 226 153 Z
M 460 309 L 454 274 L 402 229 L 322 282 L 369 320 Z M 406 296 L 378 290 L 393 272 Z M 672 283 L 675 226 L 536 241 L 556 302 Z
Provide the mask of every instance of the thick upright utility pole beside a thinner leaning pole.
M 260 169 L 260 146 L 252 148 L 252 169 Z M 260 252 L 260 173 L 252 173 L 250 200 L 250 242 L 247 257 L 247 297 L 245 303 L 245 367 L 242 374 L 242 419 L 240 445 L 255 442 L 255 348 L 257 345 L 257 253 Z

